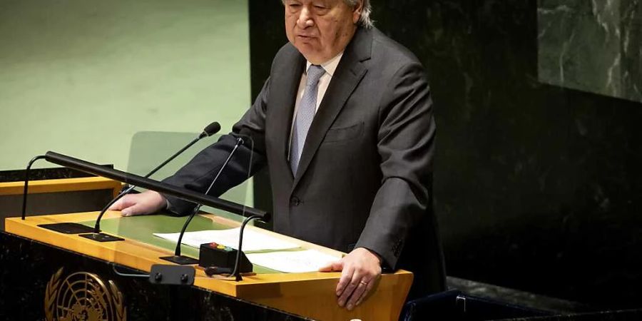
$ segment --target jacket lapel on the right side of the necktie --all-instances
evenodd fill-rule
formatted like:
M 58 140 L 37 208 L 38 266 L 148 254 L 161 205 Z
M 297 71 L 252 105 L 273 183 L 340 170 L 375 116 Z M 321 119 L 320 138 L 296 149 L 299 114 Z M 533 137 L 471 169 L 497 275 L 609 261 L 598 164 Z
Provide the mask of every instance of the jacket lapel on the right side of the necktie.
M 334 123 L 345 102 L 350 97 L 361 79 L 367 72 L 367 67 L 362 61 L 370 58 L 372 49 L 372 35 L 365 29 L 357 29 L 354 38 L 346 47 L 339 66 L 332 76 L 315 119 L 307 132 L 305 146 L 301 154 L 297 175 L 292 184 L 292 190 L 296 188 L 301 177 L 305 175 L 308 165 L 319 149 L 325 133 Z M 291 117 L 290 117 L 291 119 Z

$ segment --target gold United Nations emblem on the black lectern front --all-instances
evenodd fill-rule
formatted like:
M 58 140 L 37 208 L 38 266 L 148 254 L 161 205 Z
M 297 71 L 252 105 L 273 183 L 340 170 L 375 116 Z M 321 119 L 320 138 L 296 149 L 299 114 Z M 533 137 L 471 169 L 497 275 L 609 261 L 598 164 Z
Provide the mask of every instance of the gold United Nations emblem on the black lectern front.
M 125 321 L 123 293 L 113 281 L 76 272 L 61 280 L 63 268 L 51 275 L 45 290 L 47 321 Z

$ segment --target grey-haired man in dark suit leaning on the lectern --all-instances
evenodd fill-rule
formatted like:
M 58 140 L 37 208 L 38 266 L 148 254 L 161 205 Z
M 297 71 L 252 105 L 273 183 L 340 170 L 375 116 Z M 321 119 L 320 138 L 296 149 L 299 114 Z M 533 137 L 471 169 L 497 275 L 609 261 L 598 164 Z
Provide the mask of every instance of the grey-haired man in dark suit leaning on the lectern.
M 322 269 L 342 271 L 339 305 L 359 305 L 382 269 L 414 272 L 410 297 L 444 290 L 432 100 L 421 63 L 372 27 L 367 0 L 283 4 L 289 43 L 255 103 L 230 135 L 165 181 L 204 192 L 236 136 L 249 137 L 253 149 L 238 149 L 211 194 L 245 180 L 248 165 L 255 172 L 267 164 L 274 230 L 349 252 Z M 194 206 L 146 192 L 112 208 L 137 215 L 167 204 L 181 214 Z

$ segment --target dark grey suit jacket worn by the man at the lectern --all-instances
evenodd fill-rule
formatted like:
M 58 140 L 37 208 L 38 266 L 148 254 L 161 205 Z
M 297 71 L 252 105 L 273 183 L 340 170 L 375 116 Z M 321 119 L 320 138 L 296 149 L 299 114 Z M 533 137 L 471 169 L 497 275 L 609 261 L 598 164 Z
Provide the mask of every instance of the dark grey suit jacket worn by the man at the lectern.
M 203 192 L 235 143 L 220 195 L 267 163 L 278 233 L 349 252 L 367 248 L 384 266 L 415 273 L 411 297 L 444 290 L 432 213 L 435 126 L 421 63 L 377 29 L 357 29 L 310 126 L 297 175 L 287 161 L 295 95 L 305 58 L 280 49 L 250 110 L 233 133 L 206 148 L 168 183 Z M 249 141 L 246 139 L 246 141 Z M 193 204 L 169 198 L 178 213 Z

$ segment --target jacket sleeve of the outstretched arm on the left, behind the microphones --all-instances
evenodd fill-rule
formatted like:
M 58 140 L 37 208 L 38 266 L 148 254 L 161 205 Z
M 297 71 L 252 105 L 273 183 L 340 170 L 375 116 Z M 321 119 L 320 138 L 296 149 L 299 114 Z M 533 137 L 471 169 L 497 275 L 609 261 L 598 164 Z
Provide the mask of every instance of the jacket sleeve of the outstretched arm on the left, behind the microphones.
M 233 158 L 221 172 L 218 180 L 210 190 L 209 195 L 220 196 L 226 190 L 233 188 L 248 179 L 265 165 L 265 107 L 268 96 L 268 79 L 260 91 L 255 103 L 245 113 L 243 118 L 233 126 L 232 133 L 221 136 L 212 145 L 200 151 L 189 163 L 180 168 L 174 175 L 165 178 L 165 183 L 177 185 L 189 190 L 205 193 L 215 175 L 233 150 L 237 138 L 244 143 L 239 146 Z M 251 161 L 250 161 L 251 160 Z M 249 171 L 248 171 L 249 169 Z M 170 204 L 171 213 L 187 215 L 195 207 L 195 203 L 164 195 Z

